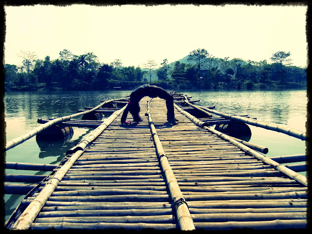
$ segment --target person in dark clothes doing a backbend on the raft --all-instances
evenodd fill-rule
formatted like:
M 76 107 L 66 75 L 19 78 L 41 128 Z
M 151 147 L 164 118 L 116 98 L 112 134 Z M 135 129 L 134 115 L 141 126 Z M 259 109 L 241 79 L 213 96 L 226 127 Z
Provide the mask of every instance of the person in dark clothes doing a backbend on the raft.
M 149 84 L 139 86 L 135 91 L 131 93 L 128 106 L 126 107 L 121 116 L 121 124 L 124 124 L 126 122 L 128 112 L 131 113 L 134 122 L 142 121 L 141 117 L 139 116 L 140 106 L 138 102 L 145 96 L 148 96 L 150 98 L 159 97 L 165 99 L 167 106 L 167 120 L 168 122 L 177 124 L 176 121 L 178 120 L 175 118 L 174 112 L 174 98 L 163 88 Z

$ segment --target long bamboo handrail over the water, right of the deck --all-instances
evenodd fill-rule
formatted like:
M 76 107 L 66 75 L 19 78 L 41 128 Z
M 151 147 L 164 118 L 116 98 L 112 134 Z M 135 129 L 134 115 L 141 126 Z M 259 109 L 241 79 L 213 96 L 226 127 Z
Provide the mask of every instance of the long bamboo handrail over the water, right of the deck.
M 260 121 L 260 120 L 256 120 L 256 119 L 251 119 L 251 118 L 221 113 L 221 112 L 218 112 L 216 110 L 212 110 L 212 109 L 208 109 L 208 108 L 205 108 L 202 106 L 194 105 L 194 104 L 190 103 L 184 95 L 183 95 L 183 97 L 184 97 L 185 103 L 187 103 L 188 105 L 190 105 L 190 106 L 192 106 L 192 107 L 196 108 L 197 110 L 200 110 L 204 113 L 208 112 L 208 113 L 215 114 L 218 116 L 226 117 L 226 118 L 231 119 L 231 120 L 241 121 L 241 122 L 244 122 L 244 123 L 256 126 L 256 127 L 272 130 L 275 132 L 284 133 L 286 135 L 299 138 L 301 140 L 306 140 L 306 133 L 305 132 L 302 132 L 302 131 L 299 131 L 299 130 L 296 130 L 293 128 L 289 128 L 287 126 L 283 126 L 280 124 L 274 124 L 274 123 Z

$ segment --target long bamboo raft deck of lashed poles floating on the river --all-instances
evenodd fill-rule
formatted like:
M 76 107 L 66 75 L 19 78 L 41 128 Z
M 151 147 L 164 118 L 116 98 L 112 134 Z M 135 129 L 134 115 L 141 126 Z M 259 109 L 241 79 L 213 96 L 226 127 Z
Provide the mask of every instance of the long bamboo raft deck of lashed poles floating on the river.
M 5 228 L 307 228 L 307 179 L 278 163 L 293 157 L 265 157 L 264 147 L 254 150 L 176 104 L 172 125 L 160 98 L 145 97 L 140 107 L 138 124 L 120 125 L 125 106 L 87 121 L 95 130 L 58 166 L 45 165 L 52 173 L 31 187 Z

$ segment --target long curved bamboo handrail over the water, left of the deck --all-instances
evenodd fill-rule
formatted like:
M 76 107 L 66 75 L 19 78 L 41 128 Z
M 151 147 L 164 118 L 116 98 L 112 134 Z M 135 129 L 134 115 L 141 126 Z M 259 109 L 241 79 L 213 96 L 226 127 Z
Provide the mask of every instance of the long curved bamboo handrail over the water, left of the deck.
M 5 148 L 4 148 L 4 151 L 7 151 L 9 149 L 14 148 L 15 146 L 19 145 L 20 143 L 28 140 L 31 137 L 36 136 L 38 133 L 42 132 L 43 130 L 45 130 L 45 129 L 47 129 L 47 128 L 49 128 L 49 127 L 51 127 L 51 126 L 53 126 L 53 125 L 55 125 L 55 124 L 57 124 L 59 122 L 70 120 L 71 118 L 78 117 L 78 116 L 90 113 L 90 112 L 98 109 L 99 107 L 101 107 L 105 103 L 112 102 L 112 101 L 115 101 L 115 100 L 123 100 L 123 99 L 124 98 L 118 98 L 118 99 L 112 99 L 112 100 L 109 100 L 109 101 L 104 101 L 104 102 L 100 103 L 98 106 L 94 107 L 91 110 L 88 110 L 88 111 L 85 111 L 85 112 L 80 112 L 80 113 L 69 115 L 69 116 L 58 117 L 58 118 L 55 118 L 53 120 L 50 120 L 49 122 L 40 125 L 39 127 L 37 127 L 35 129 L 33 129 L 33 130 L 31 130 L 31 131 L 21 135 L 20 137 L 16 137 L 16 138 L 14 138 L 12 140 L 7 141 L 6 145 L 5 145 Z

